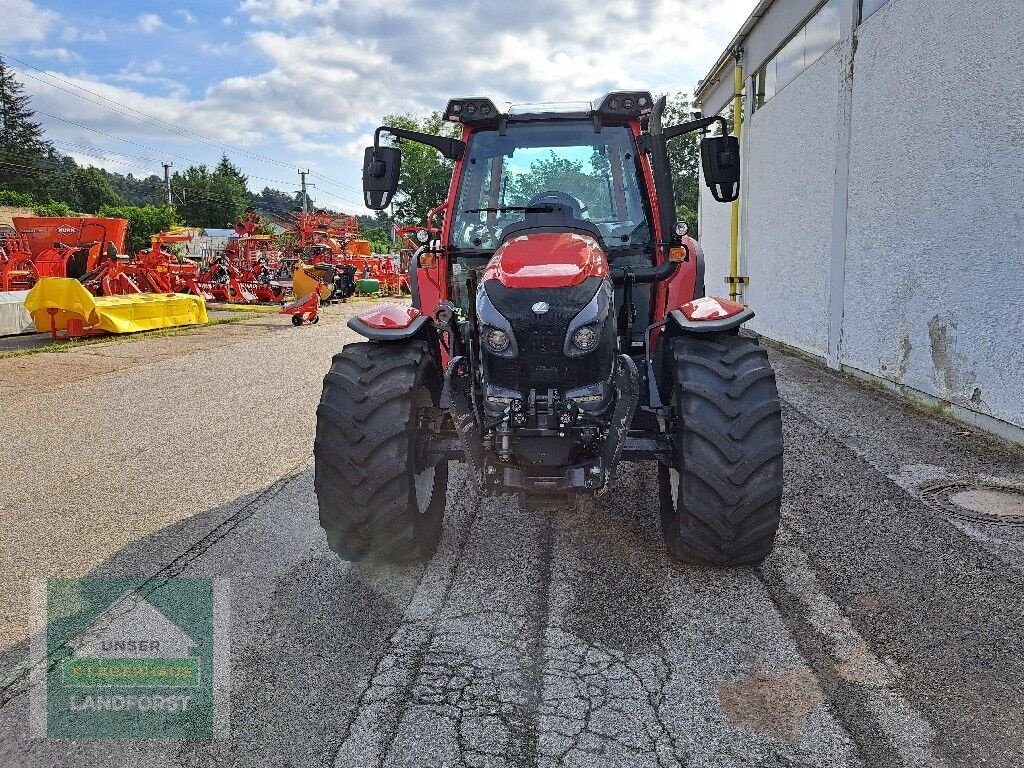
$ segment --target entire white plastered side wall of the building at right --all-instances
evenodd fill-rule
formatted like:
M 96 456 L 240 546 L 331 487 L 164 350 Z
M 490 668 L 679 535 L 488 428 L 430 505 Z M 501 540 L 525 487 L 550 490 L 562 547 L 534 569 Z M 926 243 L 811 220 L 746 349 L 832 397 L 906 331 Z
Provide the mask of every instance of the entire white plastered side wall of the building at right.
M 892 0 L 748 105 L 740 227 L 755 330 L 1016 439 L 1022 35 L 1024 3 Z M 700 205 L 717 293 L 728 207 L 707 193 Z

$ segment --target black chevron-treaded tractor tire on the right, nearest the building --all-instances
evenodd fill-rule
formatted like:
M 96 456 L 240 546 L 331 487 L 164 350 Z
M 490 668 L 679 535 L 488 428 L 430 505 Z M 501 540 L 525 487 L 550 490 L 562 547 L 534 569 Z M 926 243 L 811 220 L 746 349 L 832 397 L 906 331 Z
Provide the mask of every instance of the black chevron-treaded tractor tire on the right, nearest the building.
M 754 339 L 672 342 L 675 460 L 658 465 L 662 530 L 678 560 L 761 563 L 782 503 L 782 418 L 775 372 Z

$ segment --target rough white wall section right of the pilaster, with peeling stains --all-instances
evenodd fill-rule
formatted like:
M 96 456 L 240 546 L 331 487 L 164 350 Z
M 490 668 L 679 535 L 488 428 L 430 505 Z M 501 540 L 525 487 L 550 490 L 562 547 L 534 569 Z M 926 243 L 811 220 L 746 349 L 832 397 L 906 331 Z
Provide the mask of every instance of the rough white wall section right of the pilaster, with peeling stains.
M 1018 427 L 1022 35 L 1005 0 L 894 0 L 861 25 L 841 341 L 845 366 Z

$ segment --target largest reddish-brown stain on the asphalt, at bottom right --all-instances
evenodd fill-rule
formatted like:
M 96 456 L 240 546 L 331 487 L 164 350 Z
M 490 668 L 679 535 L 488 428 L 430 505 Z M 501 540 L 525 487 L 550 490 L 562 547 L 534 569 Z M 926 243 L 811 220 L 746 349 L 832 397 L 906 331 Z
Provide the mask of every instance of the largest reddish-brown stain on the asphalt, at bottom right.
M 821 703 L 818 680 L 808 669 L 748 675 L 718 684 L 718 700 L 733 725 L 799 743 L 808 716 Z

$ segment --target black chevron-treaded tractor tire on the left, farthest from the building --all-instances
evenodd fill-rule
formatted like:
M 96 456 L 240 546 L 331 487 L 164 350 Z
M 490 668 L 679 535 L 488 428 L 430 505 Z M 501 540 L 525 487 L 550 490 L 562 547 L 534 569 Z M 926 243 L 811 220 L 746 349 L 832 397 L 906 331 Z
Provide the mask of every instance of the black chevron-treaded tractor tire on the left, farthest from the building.
M 441 375 L 424 341 L 348 344 L 316 409 L 313 487 L 328 546 L 346 560 L 430 557 L 441 535 L 447 462 L 431 463 L 425 409 Z

